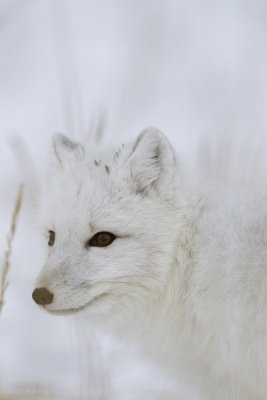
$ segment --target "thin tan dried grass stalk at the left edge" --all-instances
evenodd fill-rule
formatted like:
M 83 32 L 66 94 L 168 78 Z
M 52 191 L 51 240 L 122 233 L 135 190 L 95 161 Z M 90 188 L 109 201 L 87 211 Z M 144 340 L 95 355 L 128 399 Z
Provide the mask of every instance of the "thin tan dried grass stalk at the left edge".
M 17 219 L 18 219 L 18 215 L 20 212 L 20 208 L 21 208 L 22 196 L 23 196 L 23 184 L 21 184 L 19 187 L 18 195 L 17 195 L 16 202 L 15 202 L 15 207 L 14 207 L 13 214 L 12 214 L 10 232 L 9 232 L 9 235 L 7 236 L 7 250 L 6 250 L 5 256 L 4 256 L 4 263 L 3 263 L 3 267 L 2 267 L 2 276 L 1 276 L 0 312 L 2 311 L 2 307 L 4 304 L 5 291 L 8 286 L 7 274 L 8 274 L 9 268 L 10 268 L 10 256 L 12 253 L 12 243 L 14 240 L 16 226 L 17 226 Z

